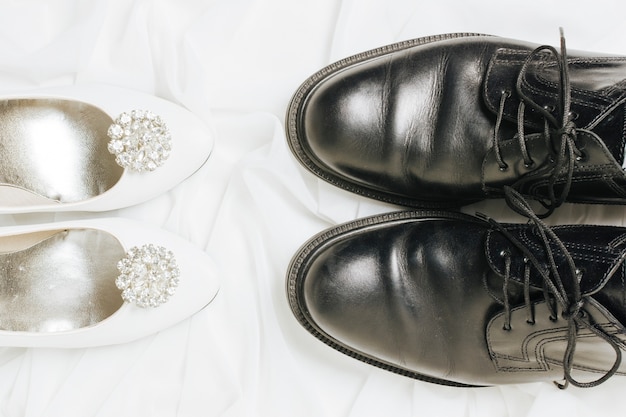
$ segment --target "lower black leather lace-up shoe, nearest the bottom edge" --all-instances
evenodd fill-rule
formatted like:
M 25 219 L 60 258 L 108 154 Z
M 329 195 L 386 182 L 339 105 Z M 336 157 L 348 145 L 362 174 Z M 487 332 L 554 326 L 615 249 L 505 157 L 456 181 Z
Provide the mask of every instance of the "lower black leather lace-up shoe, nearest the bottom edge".
M 626 370 L 626 228 L 498 224 L 440 211 L 330 229 L 294 256 L 300 323 L 333 348 L 453 386 Z

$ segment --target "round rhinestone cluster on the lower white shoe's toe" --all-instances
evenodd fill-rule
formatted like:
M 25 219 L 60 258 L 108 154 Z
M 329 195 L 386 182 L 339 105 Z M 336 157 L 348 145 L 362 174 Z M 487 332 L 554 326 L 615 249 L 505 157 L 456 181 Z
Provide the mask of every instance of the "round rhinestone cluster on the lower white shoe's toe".
M 133 247 L 117 263 L 115 280 L 124 301 L 139 307 L 158 307 L 174 295 L 180 272 L 174 254 L 152 244 Z

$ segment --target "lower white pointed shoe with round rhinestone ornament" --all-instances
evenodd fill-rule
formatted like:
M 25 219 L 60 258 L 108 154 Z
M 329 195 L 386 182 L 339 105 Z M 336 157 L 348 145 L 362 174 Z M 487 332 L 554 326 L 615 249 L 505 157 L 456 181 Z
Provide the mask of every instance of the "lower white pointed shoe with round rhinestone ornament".
M 198 312 L 218 288 L 205 252 L 131 220 L 0 229 L 0 346 L 129 342 Z

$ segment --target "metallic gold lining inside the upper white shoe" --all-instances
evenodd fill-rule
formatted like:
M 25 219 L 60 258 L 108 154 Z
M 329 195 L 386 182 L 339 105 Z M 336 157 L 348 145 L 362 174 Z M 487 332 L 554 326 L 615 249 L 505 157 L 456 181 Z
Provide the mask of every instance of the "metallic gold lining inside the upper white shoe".
M 2 205 L 20 204 L 20 193 L 78 202 L 113 187 L 123 169 L 107 150 L 112 123 L 102 110 L 77 101 L 0 101 L 0 186 L 12 189 Z

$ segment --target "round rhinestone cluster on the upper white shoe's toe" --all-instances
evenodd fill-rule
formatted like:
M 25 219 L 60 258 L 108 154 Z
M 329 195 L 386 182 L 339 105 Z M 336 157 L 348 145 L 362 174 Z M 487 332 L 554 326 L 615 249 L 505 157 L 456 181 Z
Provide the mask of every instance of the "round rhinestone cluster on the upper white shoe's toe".
M 122 168 L 154 171 L 170 156 L 172 138 L 161 117 L 151 111 L 124 112 L 109 126 L 109 152 Z

